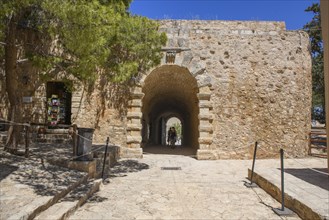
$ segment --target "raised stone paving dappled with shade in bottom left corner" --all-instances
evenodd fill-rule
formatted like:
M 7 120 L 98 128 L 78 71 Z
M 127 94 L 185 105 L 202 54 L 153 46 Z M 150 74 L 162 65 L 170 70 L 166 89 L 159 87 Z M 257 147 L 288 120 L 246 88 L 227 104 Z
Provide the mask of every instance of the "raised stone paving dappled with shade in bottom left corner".
M 51 154 L 51 152 L 49 152 Z M 31 153 L 15 156 L 0 148 L 0 219 L 28 216 L 86 173 L 53 166 Z

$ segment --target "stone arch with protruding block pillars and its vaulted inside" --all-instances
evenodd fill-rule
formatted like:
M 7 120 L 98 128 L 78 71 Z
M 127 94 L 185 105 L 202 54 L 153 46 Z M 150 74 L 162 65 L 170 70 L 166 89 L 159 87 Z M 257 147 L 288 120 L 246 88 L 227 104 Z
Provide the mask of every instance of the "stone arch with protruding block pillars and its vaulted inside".
M 186 66 L 175 64 L 159 66 L 143 75 L 132 89 L 128 104 L 126 156 L 141 156 L 144 145 L 161 144 L 163 123 L 169 115 L 175 115 L 184 126 L 183 145 L 194 148 L 197 155 L 201 153 L 202 159 L 213 133 L 208 78 L 204 68 L 190 72 Z

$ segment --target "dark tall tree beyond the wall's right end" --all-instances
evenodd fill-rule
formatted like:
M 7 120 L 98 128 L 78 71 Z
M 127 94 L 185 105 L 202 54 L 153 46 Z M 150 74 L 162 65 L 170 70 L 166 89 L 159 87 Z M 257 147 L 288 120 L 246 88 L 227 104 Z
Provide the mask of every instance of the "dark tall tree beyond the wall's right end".
M 314 14 L 312 20 L 304 25 L 303 29 L 309 34 L 312 53 L 312 107 L 324 109 L 324 66 L 323 66 L 323 41 L 321 33 L 320 5 L 312 4 L 306 12 Z

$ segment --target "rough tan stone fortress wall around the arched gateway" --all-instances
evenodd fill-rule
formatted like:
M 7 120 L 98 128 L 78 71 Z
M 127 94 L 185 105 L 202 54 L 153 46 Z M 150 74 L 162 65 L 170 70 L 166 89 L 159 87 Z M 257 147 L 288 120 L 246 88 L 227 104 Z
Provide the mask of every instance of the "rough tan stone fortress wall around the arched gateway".
M 193 140 L 185 141 L 198 159 L 251 158 L 255 141 L 263 149 L 259 157 L 278 157 L 280 147 L 296 157 L 307 154 L 312 79 L 305 32 L 287 31 L 284 22 L 159 22 L 168 36 L 161 65 L 130 88 L 99 86 L 89 97 L 77 89 L 72 123 L 95 128 L 94 142 L 109 136 L 122 156 L 140 157 L 144 122 L 153 120 L 148 105 L 160 103 L 159 112 L 160 98 L 172 93 L 184 104 L 175 114 L 190 120 L 185 136 Z M 164 74 L 173 75 L 172 85 Z

